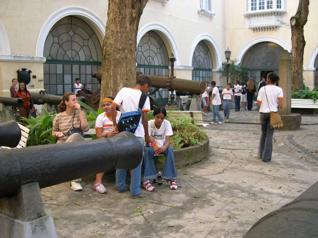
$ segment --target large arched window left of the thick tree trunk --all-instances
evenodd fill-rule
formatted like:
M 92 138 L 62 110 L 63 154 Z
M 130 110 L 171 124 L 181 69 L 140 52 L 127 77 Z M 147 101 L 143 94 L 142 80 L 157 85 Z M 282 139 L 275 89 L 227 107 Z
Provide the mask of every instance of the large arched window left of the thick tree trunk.
M 95 91 L 100 85 L 91 76 L 101 68 L 101 46 L 93 29 L 77 17 L 54 24 L 45 40 L 44 89 L 50 94 L 72 92 L 75 78 Z

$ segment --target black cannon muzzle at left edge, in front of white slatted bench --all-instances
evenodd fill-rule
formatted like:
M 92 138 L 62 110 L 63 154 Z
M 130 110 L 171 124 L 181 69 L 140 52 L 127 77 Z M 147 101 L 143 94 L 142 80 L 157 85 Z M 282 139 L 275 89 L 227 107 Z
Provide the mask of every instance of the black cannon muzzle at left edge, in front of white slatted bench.
M 0 123 L 0 146 L 14 148 L 19 144 L 20 140 L 21 129 L 17 122 L 10 120 Z

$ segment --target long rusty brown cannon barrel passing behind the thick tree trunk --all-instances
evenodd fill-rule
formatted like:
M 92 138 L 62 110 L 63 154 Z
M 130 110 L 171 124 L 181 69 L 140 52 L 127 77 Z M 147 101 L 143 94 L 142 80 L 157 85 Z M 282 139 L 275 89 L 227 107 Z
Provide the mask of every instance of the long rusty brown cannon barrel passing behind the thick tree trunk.
M 176 78 L 174 76 L 170 77 L 162 77 L 162 76 L 153 76 L 153 75 L 146 75 L 142 74 L 141 72 L 136 72 L 137 78 L 136 81 L 142 76 L 149 77 L 152 87 L 154 88 L 162 88 L 168 89 L 169 91 L 173 90 L 180 90 L 186 91 L 194 94 L 204 93 L 205 90 L 205 83 L 203 81 L 192 81 L 186 79 Z M 102 70 L 94 71 L 92 73 L 92 77 L 97 78 L 101 81 L 102 77 Z

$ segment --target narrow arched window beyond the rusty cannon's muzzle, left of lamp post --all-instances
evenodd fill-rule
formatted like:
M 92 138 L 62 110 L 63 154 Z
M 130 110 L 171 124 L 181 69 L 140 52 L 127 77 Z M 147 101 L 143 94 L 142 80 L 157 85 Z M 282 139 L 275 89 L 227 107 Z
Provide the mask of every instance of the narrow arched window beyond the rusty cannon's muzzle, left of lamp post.
M 208 46 L 200 41 L 192 56 L 192 80 L 194 81 L 212 81 L 212 57 Z

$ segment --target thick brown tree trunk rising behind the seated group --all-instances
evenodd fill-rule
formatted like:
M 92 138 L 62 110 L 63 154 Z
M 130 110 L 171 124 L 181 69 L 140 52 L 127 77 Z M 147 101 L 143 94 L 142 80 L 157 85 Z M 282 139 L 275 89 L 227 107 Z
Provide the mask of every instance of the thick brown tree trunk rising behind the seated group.
M 142 11 L 148 0 L 108 0 L 103 43 L 100 102 L 123 87 L 136 86 L 136 45 Z

